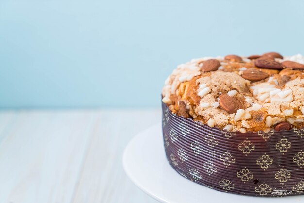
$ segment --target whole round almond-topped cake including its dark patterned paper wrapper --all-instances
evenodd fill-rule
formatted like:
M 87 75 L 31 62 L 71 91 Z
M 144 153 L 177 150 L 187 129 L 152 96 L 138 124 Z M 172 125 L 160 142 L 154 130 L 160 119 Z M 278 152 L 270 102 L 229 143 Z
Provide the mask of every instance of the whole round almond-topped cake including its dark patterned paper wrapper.
M 162 92 L 167 159 L 182 176 L 253 196 L 304 194 L 304 57 L 179 65 Z

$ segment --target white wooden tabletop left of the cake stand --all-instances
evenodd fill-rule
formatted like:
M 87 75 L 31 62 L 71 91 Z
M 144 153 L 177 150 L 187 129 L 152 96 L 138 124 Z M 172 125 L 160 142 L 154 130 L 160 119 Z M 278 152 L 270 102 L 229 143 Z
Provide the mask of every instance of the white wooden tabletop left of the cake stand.
M 0 111 L 1 203 L 156 203 L 122 152 L 160 109 Z

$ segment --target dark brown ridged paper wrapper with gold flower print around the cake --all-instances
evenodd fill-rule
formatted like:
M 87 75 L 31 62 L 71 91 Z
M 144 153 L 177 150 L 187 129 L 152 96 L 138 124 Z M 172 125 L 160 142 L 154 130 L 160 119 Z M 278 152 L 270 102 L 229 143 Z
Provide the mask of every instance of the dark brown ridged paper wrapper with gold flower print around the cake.
M 226 132 L 162 109 L 166 156 L 183 177 L 242 195 L 304 194 L 303 129 Z

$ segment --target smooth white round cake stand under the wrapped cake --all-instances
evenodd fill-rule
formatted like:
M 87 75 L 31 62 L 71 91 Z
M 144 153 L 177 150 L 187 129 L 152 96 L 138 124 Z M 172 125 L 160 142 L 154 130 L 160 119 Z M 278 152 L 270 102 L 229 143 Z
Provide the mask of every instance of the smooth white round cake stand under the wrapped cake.
M 123 154 L 123 167 L 136 186 L 162 203 L 304 203 L 304 195 L 242 196 L 187 180 L 166 159 L 161 124 L 139 133 L 129 142 Z

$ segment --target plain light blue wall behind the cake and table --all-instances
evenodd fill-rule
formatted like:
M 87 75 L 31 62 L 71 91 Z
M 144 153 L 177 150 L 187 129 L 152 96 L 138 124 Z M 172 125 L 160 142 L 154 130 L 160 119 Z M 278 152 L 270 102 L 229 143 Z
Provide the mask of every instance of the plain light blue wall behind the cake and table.
M 158 106 L 191 58 L 304 54 L 303 0 L 1 0 L 0 107 Z

